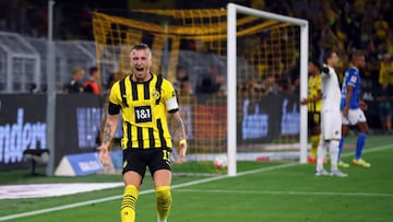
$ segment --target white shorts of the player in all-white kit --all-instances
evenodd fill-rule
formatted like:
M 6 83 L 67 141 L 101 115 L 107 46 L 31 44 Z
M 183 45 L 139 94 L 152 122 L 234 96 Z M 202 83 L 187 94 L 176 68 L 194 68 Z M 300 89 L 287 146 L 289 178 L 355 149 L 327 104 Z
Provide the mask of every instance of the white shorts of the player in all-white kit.
M 341 140 L 342 115 L 340 110 L 321 112 L 321 135 L 323 140 Z

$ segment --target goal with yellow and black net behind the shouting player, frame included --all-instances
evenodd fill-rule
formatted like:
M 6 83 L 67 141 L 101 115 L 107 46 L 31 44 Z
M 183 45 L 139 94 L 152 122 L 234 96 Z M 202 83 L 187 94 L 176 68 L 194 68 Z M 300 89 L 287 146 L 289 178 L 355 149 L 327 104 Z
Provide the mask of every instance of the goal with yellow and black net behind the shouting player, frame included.
M 299 107 L 300 79 L 307 80 L 307 73 L 300 78 L 300 70 L 307 72 L 302 23 L 267 15 L 231 3 L 93 12 L 103 85 L 130 73 L 130 46 L 146 43 L 153 73 L 178 90 L 189 150 L 187 163 L 174 164 L 174 173 L 235 175 L 264 161 L 306 160 L 300 152 L 307 143 L 306 110 Z M 176 163 L 176 152 L 172 159 Z

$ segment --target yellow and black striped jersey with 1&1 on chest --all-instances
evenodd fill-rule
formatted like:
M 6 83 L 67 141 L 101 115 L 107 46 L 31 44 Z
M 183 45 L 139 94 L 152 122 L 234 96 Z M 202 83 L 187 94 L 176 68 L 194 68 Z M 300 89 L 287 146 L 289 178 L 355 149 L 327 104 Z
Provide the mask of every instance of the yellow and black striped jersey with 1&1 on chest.
M 179 105 L 168 80 L 152 74 L 139 83 L 128 75 L 112 85 L 109 103 L 121 107 L 122 149 L 171 148 L 167 112 L 178 110 Z

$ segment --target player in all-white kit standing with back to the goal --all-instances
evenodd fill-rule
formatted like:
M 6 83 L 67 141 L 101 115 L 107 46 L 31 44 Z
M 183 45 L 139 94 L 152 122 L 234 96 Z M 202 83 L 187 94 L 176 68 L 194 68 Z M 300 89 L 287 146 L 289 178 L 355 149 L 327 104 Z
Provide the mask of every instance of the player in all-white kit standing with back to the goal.
M 341 90 L 337 73 L 334 68 L 338 65 L 338 56 L 334 51 L 326 51 L 323 57 L 322 69 L 322 110 L 321 110 L 321 135 L 322 138 L 317 151 L 315 175 L 329 175 L 323 170 L 323 159 L 329 149 L 331 159 L 331 176 L 346 177 L 348 174 L 341 172 L 337 167 L 338 144 L 342 138 L 342 118 L 340 110 Z

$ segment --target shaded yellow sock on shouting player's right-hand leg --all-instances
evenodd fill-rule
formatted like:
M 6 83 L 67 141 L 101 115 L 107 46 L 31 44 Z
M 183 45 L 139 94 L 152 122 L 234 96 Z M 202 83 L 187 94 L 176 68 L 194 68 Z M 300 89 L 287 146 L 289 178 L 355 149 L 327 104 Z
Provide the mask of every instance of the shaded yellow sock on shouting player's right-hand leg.
M 170 186 L 156 187 L 158 221 L 166 221 L 171 207 Z

